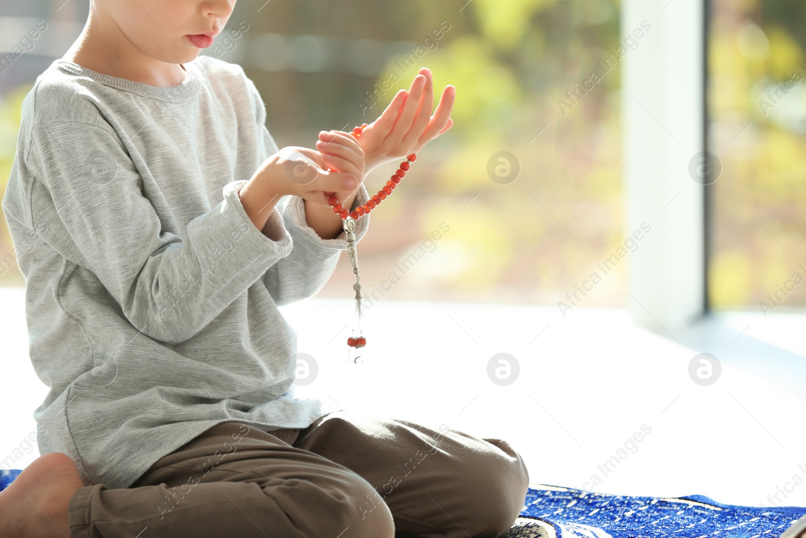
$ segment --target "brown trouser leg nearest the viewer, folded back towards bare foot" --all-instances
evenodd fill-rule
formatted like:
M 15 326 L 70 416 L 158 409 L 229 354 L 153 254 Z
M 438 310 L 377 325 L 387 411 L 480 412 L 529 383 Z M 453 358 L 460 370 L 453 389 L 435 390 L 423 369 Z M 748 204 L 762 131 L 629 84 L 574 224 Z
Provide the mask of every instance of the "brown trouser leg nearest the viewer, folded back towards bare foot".
M 276 433 L 293 441 L 297 432 Z M 219 423 L 130 488 L 80 488 L 69 538 L 393 538 L 385 505 L 355 508 L 374 491 L 364 478 L 273 433 Z

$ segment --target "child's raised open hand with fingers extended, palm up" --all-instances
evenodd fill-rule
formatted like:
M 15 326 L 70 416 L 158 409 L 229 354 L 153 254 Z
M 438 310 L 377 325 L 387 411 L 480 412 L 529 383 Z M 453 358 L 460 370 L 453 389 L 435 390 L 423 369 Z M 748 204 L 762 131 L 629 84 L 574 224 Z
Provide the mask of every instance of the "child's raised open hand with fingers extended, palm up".
M 420 69 L 409 91 L 397 92 L 383 114 L 364 127 L 359 144 L 364 149 L 367 172 L 386 162 L 419 152 L 430 140 L 453 127 L 451 111 L 455 101 L 455 87 L 445 86 L 437 111 L 431 115 L 433 88 L 430 69 Z M 343 131 L 331 132 L 347 135 Z M 319 139 L 322 140 L 322 134 Z

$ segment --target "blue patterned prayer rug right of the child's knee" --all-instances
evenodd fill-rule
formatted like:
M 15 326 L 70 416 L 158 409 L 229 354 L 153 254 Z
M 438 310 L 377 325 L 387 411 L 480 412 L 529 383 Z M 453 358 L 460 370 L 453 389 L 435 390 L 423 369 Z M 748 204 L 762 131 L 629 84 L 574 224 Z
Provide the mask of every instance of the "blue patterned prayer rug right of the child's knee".
M 703 495 L 632 497 L 529 488 L 506 538 L 778 538 L 806 507 L 739 507 Z M 503 537 L 502 537 L 503 538 Z

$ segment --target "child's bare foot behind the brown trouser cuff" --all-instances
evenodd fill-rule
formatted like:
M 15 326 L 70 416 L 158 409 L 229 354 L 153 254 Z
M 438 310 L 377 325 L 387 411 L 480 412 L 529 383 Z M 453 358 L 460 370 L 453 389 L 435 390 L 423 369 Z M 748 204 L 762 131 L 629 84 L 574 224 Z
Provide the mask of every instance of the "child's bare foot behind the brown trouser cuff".
M 83 486 L 66 454 L 54 452 L 35 459 L 0 492 L 0 538 L 69 536 L 70 499 Z

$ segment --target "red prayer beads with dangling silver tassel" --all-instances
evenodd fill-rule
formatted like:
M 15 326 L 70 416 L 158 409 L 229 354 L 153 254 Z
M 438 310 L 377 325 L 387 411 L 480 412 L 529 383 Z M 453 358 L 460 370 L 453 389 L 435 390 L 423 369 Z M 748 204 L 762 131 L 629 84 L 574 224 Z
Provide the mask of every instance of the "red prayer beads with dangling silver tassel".
M 355 127 L 351 134 L 358 139 L 361 136 L 361 131 L 364 131 L 364 127 L 367 127 L 367 125 L 367 123 L 364 123 L 361 127 Z M 369 199 L 363 206 L 356 207 L 354 211 L 347 211 L 347 209 L 339 203 L 339 200 L 336 199 L 334 193 L 329 193 L 327 199 L 327 202 L 333 207 L 333 211 L 343 219 L 342 226 L 344 228 L 344 235 L 347 237 L 347 253 L 350 255 L 350 263 L 353 268 L 353 273 L 355 273 L 355 284 L 353 285 L 353 290 L 355 290 L 355 315 L 353 316 L 351 336 L 347 338 L 347 362 L 353 364 L 359 362 L 359 358 L 361 357 L 360 348 L 363 348 L 367 344 L 367 339 L 361 335 L 361 282 L 358 273 L 358 251 L 355 248 L 355 227 L 358 225 L 358 219 L 361 216 L 369 215 L 369 212 L 375 209 L 382 200 L 385 200 L 387 196 L 392 194 L 394 188 L 401 182 L 401 179 L 405 177 L 405 173 L 415 160 L 417 160 L 415 153 L 406 157 L 406 161 L 401 163 L 397 172 L 389 181 L 386 181 L 386 186 L 379 190 L 378 194 Z

